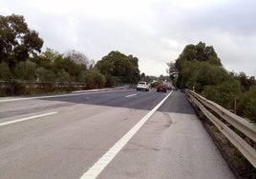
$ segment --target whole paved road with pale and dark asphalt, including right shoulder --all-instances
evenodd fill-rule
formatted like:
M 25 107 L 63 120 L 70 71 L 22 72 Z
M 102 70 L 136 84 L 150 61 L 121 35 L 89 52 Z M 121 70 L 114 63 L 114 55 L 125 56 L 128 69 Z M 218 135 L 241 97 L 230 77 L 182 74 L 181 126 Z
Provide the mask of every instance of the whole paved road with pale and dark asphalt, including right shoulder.
M 153 89 L 0 99 L 0 173 L 234 178 L 185 94 Z

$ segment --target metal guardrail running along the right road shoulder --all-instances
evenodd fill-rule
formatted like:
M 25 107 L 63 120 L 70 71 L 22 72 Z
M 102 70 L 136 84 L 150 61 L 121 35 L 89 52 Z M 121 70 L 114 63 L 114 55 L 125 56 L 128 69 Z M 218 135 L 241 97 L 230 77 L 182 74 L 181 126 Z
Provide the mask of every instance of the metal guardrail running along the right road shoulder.
M 240 135 L 238 135 L 233 129 L 229 128 L 231 125 L 235 129 L 245 134 L 246 137 L 250 138 L 254 143 L 256 142 L 256 125 L 249 123 L 242 117 L 235 115 L 227 109 L 224 109 L 220 105 L 205 99 L 200 94 L 186 90 L 190 101 L 193 105 L 197 106 L 202 110 L 203 114 L 224 134 L 224 136 L 245 156 L 245 158 L 256 168 L 256 150 L 251 147 Z M 216 117 L 212 113 L 214 111 L 218 114 L 221 119 Z

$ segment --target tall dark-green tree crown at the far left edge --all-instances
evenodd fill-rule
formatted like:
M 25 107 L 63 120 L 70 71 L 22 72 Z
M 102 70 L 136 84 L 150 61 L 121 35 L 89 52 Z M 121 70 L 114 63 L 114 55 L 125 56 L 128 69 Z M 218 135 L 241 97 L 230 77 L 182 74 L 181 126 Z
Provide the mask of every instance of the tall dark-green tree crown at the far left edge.
M 0 63 L 5 61 L 14 68 L 18 62 L 41 51 L 43 40 L 30 30 L 22 15 L 0 15 Z

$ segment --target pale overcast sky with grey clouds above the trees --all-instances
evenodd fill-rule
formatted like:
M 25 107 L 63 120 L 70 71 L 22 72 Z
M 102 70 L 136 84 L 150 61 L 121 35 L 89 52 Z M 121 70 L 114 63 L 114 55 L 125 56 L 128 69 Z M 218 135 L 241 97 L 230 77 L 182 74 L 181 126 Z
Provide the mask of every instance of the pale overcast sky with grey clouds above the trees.
M 156 76 L 200 41 L 226 70 L 256 76 L 255 7 L 254 0 L 0 0 L 0 14 L 23 15 L 43 50 L 77 50 L 95 61 L 118 50 Z

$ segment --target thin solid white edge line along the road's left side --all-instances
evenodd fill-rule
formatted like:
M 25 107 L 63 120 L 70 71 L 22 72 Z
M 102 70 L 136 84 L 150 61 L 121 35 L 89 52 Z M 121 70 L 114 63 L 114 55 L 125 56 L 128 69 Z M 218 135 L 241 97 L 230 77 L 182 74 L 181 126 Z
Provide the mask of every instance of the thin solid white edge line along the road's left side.
M 54 98 L 54 97 L 64 97 L 64 96 L 77 96 L 77 95 L 87 95 L 87 94 L 96 94 L 96 93 L 105 93 L 105 92 L 114 92 L 119 90 L 111 90 L 111 91 L 97 91 L 97 92 L 86 92 L 86 93 L 72 93 L 72 94 L 59 94 L 52 96 L 38 96 L 38 97 L 26 97 L 26 98 L 13 98 L 13 99 L 2 99 L 0 103 L 3 102 L 11 102 L 11 101 L 23 101 L 29 99 L 44 99 L 44 98 Z

